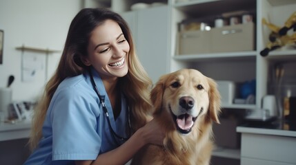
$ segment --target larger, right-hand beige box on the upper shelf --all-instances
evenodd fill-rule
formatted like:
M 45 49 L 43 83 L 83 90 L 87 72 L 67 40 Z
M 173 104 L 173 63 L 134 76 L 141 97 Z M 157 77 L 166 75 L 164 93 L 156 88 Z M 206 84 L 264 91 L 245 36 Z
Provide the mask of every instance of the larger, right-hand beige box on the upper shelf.
M 254 23 L 213 28 L 211 52 L 255 50 Z

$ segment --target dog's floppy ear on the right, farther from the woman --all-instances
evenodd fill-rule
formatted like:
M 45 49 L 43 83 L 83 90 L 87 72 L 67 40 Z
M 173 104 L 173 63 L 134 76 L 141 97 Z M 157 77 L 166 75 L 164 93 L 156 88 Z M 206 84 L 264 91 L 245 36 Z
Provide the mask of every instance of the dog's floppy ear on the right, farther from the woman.
M 219 113 L 221 112 L 220 104 L 221 104 L 221 96 L 219 94 L 217 83 L 212 78 L 208 78 L 208 85 L 210 85 L 210 90 L 208 92 L 210 104 L 209 104 L 209 113 L 210 118 L 219 123 Z

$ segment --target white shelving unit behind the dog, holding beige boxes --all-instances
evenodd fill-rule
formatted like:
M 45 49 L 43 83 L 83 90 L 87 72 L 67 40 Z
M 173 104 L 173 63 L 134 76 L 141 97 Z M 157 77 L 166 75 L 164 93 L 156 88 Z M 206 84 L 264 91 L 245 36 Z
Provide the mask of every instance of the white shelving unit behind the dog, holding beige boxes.
M 266 29 L 262 25 L 262 18 L 268 19 L 270 22 L 276 25 L 283 26 L 284 22 L 290 14 L 295 12 L 296 1 L 276 1 L 276 0 L 257 0 L 257 1 L 169 1 L 171 6 L 171 44 L 170 44 L 170 56 L 171 58 L 171 71 L 180 69 L 182 67 L 195 67 L 201 72 L 209 73 L 210 77 L 217 79 L 221 78 L 220 74 L 228 72 L 229 69 L 226 67 L 233 68 L 237 72 L 248 72 L 248 70 L 253 67 L 255 69 L 251 70 L 246 75 L 246 79 L 241 78 L 229 78 L 224 75 L 227 80 L 248 80 L 247 78 L 253 77 L 256 79 L 256 104 L 222 104 L 222 107 L 226 109 L 259 109 L 261 105 L 262 98 L 268 94 L 268 79 L 270 78 L 270 65 L 273 63 L 295 63 L 296 61 L 296 50 L 286 50 L 286 48 L 281 48 L 279 50 L 274 50 L 269 53 L 268 56 L 262 57 L 259 53 L 264 50 L 268 42 L 268 34 L 270 30 Z M 233 12 L 236 10 L 253 10 L 255 11 L 255 50 L 249 52 L 221 52 L 221 53 L 210 53 L 210 54 L 177 54 L 176 47 L 178 41 L 176 39 L 178 28 L 177 24 L 184 19 L 192 19 L 195 17 L 202 17 L 213 14 L 221 14 L 222 12 Z M 227 63 L 226 61 L 230 61 Z M 244 62 L 248 61 L 248 64 Z M 217 66 L 217 71 L 208 72 L 209 66 L 219 64 Z M 225 63 L 225 65 L 223 65 Z M 235 63 L 241 63 L 240 68 L 237 68 Z M 220 65 L 221 64 L 221 65 Z M 201 65 L 201 67 L 198 67 Z M 221 67 L 222 66 L 222 67 Z M 225 68 L 224 68 L 225 67 Z M 236 75 L 235 72 L 230 72 L 229 74 Z M 208 74 L 206 74 L 208 75 Z M 296 74 L 293 75 L 294 79 Z M 223 77 L 222 77 L 223 78 Z M 230 159 L 240 159 L 240 149 L 230 149 L 230 148 L 217 148 L 213 152 L 213 155 L 217 157 L 226 157 Z

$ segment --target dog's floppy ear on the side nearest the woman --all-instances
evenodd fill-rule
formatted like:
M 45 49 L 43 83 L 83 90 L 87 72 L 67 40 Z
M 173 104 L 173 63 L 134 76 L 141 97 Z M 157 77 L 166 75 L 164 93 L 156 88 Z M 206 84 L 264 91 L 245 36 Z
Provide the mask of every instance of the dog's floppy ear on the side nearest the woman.
M 159 78 L 159 80 L 155 84 L 155 87 L 153 87 L 150 93 L 150 99 L 152 101 L 153 106 L 155 107 L 155 113 L 157 113 L 162 106 L 161 104 L 162 104 L 162 97 L 164 95 L 165 81 L 166 81 L 166 75 L 161 76 L 161 78 Z

